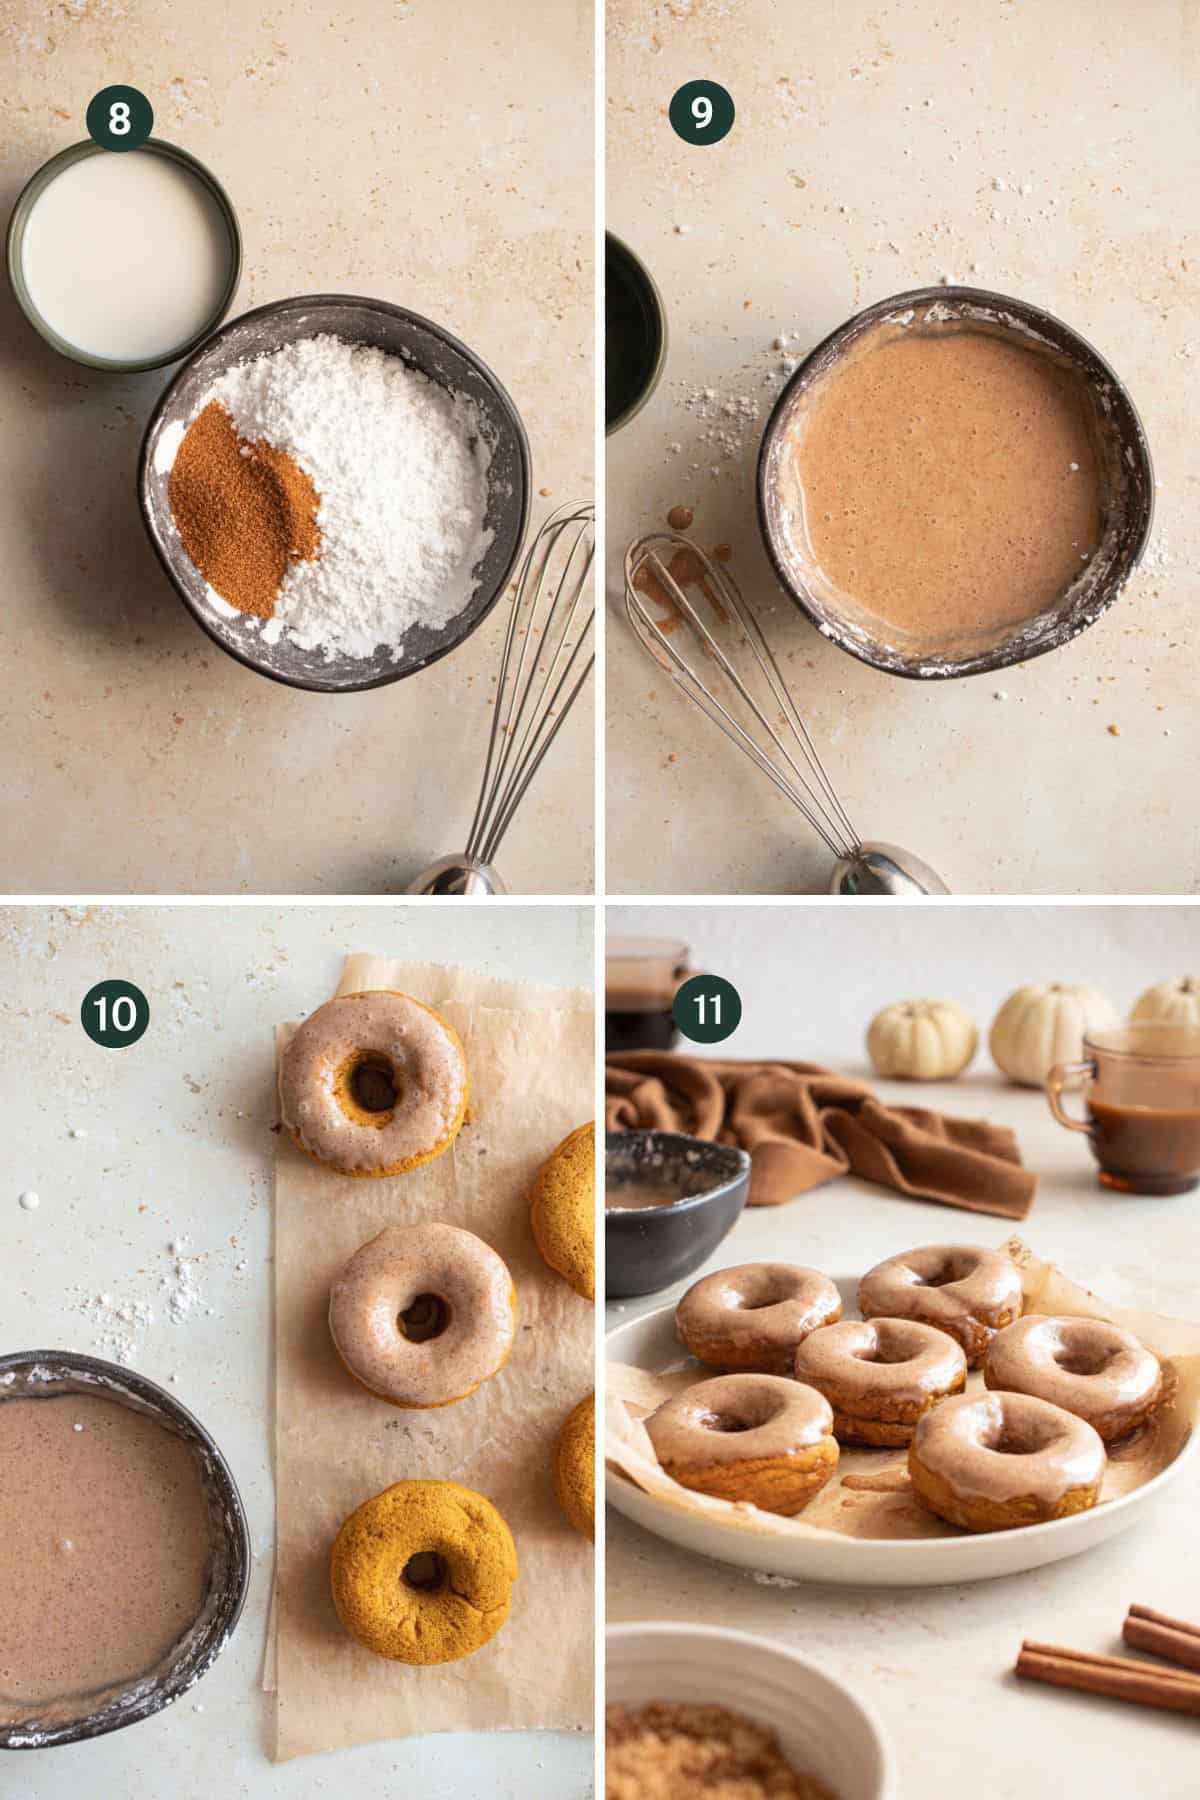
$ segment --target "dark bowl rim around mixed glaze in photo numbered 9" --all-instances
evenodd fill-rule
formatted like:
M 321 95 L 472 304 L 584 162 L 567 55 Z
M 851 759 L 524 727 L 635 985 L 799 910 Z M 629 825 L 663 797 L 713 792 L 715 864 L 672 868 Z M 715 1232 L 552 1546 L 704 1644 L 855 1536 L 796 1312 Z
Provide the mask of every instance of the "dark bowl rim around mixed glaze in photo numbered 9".
M 905 641 L 882 619 L 833 590 L 808 545 L 802 506 L 788 481 L 790 443 L 808 401 L 826 376 L 876 328 L 972 329 L 1040 351 L 1056 367 L 1079 378 L 1094 427 L 1101 473 L 1099 544 L 1087 567 L 1040 612 L 993 632 L 966 634 L 939 644 L 928 637 Z M 833 392 L 833 391 L 831 391 Z M 826 400 L 829 403 L 829 400 Z M 772 409 L 757 463 L 757 513 L 766 553 L 792 599 L 817 630 L 862 662 L 889 675 L 945 680 L 982 675 L 1027 662 L 1070 643 L 1121 596 L 1133 574 L 1153 524 L 1153 468 L 1142 421 L 1128 389 L 1097 349 L 1052 313 L 984 288 L 914 288 L 878 301 L 838 326 L 801 362 Z

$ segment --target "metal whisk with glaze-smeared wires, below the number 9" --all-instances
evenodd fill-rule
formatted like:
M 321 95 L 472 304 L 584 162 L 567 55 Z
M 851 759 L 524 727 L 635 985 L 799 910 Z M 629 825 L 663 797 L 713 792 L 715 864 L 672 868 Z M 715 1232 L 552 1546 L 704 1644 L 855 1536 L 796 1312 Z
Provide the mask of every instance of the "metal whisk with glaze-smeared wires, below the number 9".
M 675 558 L 676 572 L 671 567 Z M 696 601 L 689 598 L 689 587 L 707 601 L 712 625 L 705 623 Z M 651 601 L 658 601 L 658 610 L 673 607 L 678 619 L 669 612 L 657 617 Z M 642 648 L 675 686 L 774 781 L 817 832 L 835 857 L 829 893 L 950 893 L 919 857 L 896 844 L 860 839 L 808 725 L 795 709 L 763 630 L 729 569 L 721 569 L 687 538 L 653 531 L 630 544 L 624 554 L 624 610 Z M 693 639 L 702 655 L 700 668 L 675 643 L 676 623 L 687 626 L 687 634 L 680 635 Z M 739 666 L 730 653 L 739 657 Z

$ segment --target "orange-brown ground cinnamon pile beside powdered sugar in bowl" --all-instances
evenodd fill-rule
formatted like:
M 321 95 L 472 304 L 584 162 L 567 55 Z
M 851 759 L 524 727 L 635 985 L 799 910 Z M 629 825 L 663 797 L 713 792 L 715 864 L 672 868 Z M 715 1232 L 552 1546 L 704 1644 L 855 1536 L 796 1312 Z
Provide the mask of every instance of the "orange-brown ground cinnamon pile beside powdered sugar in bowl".
M 288 563 L 320 554 L 320 495 L 295 457 L 241 439 L 212 400 L 184 434 L 167 499 L 184 549 L 230 607 L 270 619 Z

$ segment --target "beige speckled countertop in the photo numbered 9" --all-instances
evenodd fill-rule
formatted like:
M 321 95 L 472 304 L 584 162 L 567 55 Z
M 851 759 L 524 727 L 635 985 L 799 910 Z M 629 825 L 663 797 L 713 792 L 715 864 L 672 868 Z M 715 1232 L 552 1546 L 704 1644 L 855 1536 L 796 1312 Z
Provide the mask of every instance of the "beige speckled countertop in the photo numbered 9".
M 610 891 L 822 893 L 829 873 L 615 610 L 626 540 L 676 502 L 774 601 L 768 634 L 865 837 L 907 844 L 955 893 L 1200 891 L 1200 11 L 610 0 L 608 16 L 608 225 L 649 263 L 671 328 L 658 392 L 610 439 Z M 666 122 L 693 77 L 734 95 L 720 146 Z M 775 587 L 754 459 L 790 360 L 943 277 L 1025 295 L 1108 356 L 1146 423 L 1157 522 L 1074 644 L 1000 679 L 901 682 Z

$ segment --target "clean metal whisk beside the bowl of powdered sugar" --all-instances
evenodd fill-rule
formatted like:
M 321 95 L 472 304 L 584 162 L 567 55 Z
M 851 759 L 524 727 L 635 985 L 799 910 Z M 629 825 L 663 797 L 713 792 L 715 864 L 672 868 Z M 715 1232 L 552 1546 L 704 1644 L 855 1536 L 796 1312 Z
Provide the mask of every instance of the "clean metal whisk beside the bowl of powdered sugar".
M 596 509 L 590 500 L 560 506 L 525 549 L 504 634 L 488 760 L 466 850 L 432 862 L 407 893 L 506 893 L 493 868 L 495 855 L 596 662 L 590 648 L 594 558 Z

